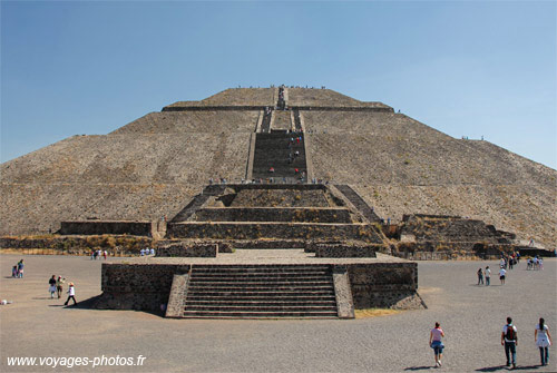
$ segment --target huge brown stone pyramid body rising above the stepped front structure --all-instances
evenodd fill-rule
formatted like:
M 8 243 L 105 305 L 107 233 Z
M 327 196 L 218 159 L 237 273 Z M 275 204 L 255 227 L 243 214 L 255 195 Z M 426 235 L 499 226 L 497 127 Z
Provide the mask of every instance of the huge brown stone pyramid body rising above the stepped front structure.
M 290 150 L 268 156 L 291 132 L 303 134 L 297 167 Z M 272 179 L 349 186 L 392 223 L 462 216 L 517 239 L 557 242 L 554 169 L 329 89 L 236 88 L 178 101 L 108 135 L 76 135 L 3 163 L 1 175 L 4 236 L 57 232 L 61 222 L 172 222 L 209 179 Z

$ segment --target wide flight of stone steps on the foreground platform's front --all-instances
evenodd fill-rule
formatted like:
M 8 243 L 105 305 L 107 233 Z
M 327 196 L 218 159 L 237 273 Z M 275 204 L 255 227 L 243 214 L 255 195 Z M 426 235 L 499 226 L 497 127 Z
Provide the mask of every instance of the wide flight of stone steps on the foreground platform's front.
M 194 265 L 184 317 L 336 318 L 328 265 Z

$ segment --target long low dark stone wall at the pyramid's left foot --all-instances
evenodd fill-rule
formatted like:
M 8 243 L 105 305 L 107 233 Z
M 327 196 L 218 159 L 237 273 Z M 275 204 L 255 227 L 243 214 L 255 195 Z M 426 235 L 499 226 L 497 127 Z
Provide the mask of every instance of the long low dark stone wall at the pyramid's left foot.
M 134 235 L 150 236 L 152 222 L 61 222 L 62 235 Z

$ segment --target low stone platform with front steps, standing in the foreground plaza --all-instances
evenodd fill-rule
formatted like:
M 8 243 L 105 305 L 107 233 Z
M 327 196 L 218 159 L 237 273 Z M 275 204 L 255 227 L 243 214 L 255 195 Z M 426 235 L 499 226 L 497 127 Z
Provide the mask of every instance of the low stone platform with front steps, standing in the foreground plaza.
M 329 292 L 326 296 L 334 295 L 334 316 L 338 317 L 353 317 L 354 308 L 424 307 L 417 292 L 418 265 L 414 262 L 383 254 L 373 258 L 320 258 L 292 248 L 237 249 L 211 258 L 139 257 L 105 263 L 102 295 L 96 306 L 144 311 L 158 311 L 163 306 L 167 307 L 168 316 L 184 317 L 188 311 L 189 276 L 196 271 L 202 272 L 199 278 L 213 277 L 205 285 L 196 285 L 205 286 L 208 313 L 204 316 L 194 312 L 192 317 L 319 317 L 320 314 L 313 311 L 319 312 L 324 302 L 321 291 Z M 315 272 L 320 273 L 320 278 Z M 273 276 L 277 279 L 272 279 Z M 231 300 L 234 294 L 241 294 L 241 300 Z M 265 298 L 265 304 L 261 305 L 264 297 L 272 302 Z M 310 301 L 314 298 L 321 303 L 312 304 Z M 289 302 L 276 304 L 277 300 Z M 224 306 L 215 305 L 223 302 Z M 270 306 L 270 302 L 275 305 Z M 300 304 L 305 308 L 299 308 Z M 194 311 L 197 306 L 193 306 Z M 233 312 L 231 307 L 244 313 Z M 328 307 L 323 315 L 331 317 L 330 305 Z

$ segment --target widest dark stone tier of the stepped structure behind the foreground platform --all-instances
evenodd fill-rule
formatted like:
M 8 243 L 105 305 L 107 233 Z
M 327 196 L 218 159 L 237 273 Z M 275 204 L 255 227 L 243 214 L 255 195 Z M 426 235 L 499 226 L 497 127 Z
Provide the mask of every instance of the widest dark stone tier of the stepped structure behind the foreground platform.
M 360 239 L 382 244 L 382 234 L 369 224 L 312 223 L 178 223 L 169 224 L 170 238 L 225 239 Z

